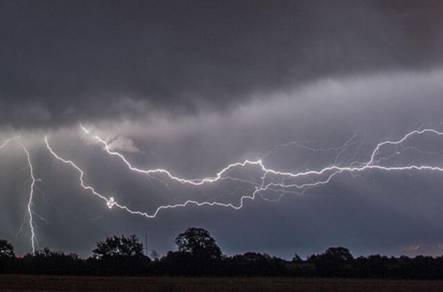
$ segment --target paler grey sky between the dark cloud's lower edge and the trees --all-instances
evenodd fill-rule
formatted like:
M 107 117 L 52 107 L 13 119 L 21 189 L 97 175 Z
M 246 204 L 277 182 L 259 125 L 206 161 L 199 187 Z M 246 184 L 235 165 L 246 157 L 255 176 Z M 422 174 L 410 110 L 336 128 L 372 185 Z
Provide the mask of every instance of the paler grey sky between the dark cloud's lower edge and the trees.
M 319 170 L 334 163 L 337 152 L 275 146 L 296 140 L 311 147 L 339 147 L 357 132 L 359 143 L 337 163 L 367 161 L 374 145 L 385 138 L 399 138 L 421 126 L 442 128 L 442 76 L 442 71 L 433 71 L 328 79 L 288 94 L 257 98 L 223 114 L 154 116 L 85 126 L 114 141 L 111 145 L 134 165 L 162 167 L 186 179 L 213 176 L 228 163 L 257 156 L 275 170 Z M 134 210 L 152 213 L 161 205 L 186 199 L 238 204 L 240 196 L 253 192 L 253 185 L 230 182 L 190 188 L 165 176 L 158 180 L 129 172 L 118 158 L 82 136 L 77 125 L 43 132 L 58 154 L 82 167 L 87 184 Z M 408 248 L 419 244 L 429 249 L 416 253 L 434 255 L 443 244 L 438 232 L 443 222 L 439 172 L 343 174 L 302 197 L 287 194 L 280 202 L 246 201 L 242 210 L 189 206 L 145 219 L 109 210 L 104 201 L 82 190 L 78 172 L 54 161 L 43 146 L 44 134 L 33 130 L 19 140 L 30 149 L 35 176 L 42 179 L 33 201 L 34 212 L 41 216 L 35 215 L 41 246 L 89 255 L 96 241 L 135 232 L 141 237 L 147 233 L 150 248 L 163 254 L 174 248 L 174 236 L 188 226 L 208 228 L 228 254 L 257 250 L 290 258 L 293 253 L 320 253 L 341 245 L 355 255 L 399 255 L 411 254 Z M 424 153 L 406 150 L 386 163 L 442 165 L 442 141 L 435 136 L 411 139 L 404 146 Z M 0 236 L 26 253 L 30 248 L 28 221 L 23 221 L 29 192 L 26 160 L 17 143 L 1 149 L 0 158 Z M 230 173 L 248 180 L 254 174 L 247 167 Z M 276 194 L 266 196 L 272 199 Z M 16 237 L 22 222 L 24 228 Z

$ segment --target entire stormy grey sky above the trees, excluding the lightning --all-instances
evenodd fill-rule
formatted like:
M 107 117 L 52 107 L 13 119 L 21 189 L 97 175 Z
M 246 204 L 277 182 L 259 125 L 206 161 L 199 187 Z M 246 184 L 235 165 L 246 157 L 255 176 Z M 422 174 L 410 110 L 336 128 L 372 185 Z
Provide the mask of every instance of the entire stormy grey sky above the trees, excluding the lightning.
M 442 1 L 0 1 L 0 238 L 91 254 L 135 233 L 164 255 L 190 226 L 226 255 L 441 255 L 443 172 L 341 172 L 266 189 L 258 161 L 291 174 L 370 161 L 378 143 L 443 131 Z M 82 131 L 80 125 L 89 130 Z M 29 222 L 30 154 L 35 188 Z M 443 135 L 377 152 L 386 167 L 443 165 Z M 359 164 L 360 163 L 360 164 Z M 313 183 L 317 177 L 302 178 Z M 324 179 L 322 176 L 320 179 Z M 273 183 L 293 183 L 284 175 Z

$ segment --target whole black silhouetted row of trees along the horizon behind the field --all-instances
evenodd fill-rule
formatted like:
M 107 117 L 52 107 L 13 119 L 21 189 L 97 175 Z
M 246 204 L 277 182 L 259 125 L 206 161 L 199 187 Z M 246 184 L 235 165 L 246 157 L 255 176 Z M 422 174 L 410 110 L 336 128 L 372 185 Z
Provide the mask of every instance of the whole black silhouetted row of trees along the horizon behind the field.
M 136 235 L 98 241 L 87 258 L 49 248 L 18 257 L 12 244 L 0 239 L 0 273 L 443 279 L 443 256 L 354 258 L 347 248 L 332 247 L 307 259 L 295 255 L 287 260 L 254 252 L 228 257 L 203 228 L 188 228 L 174 242 L 177 250 L 154 259 L 143 254 Z

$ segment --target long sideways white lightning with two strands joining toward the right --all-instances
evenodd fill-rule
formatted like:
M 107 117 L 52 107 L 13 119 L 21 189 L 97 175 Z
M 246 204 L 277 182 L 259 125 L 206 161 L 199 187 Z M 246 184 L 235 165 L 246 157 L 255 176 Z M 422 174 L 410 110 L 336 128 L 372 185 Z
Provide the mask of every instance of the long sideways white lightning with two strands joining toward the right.
M 82 125 L 80 125 L 80 127 L 81 127 L 82 131 L 84 131 L 85 134 L 90 135 L 90 131 L 88 129 L 86 129 Z M 127 211 L 131 214 L 134 214 L 134 215 L 141 215 L 141 216 L 144 216 L 147 218 L 154 218 L 159 214 L 159 212 L 161 210 L 168 210 L 168 209 L 174 209 L 174 208 L 184 208 L 189 205 L 219 206 L 219 207 L 233 208 L 233 209 L 239 210 L 239 209 L 243 208 L 245 200 L 254 200 L 256 198 L 257 194 L 261 194 L 262 192 L 266 192 L 266 190 L 283 189 L 284 193 L 286 193 L 286 192 L 291 192 L 290 190 L 295 188 L 296 190 L 298 190 L 298 192 L 293 191 L 293 193 L 302 194 L 302 192 L 304 192 L 307 188 L 314 188 L 314 187 L 318 187 L 320 185 L 325 185 L 325 184 L 329 183 L 334 178 L 334 176 L 336 176 L 337 174 L 341 174 L 343 172 L 350 172 L 351 174 L 358 173 L 358 172 L 367 172 L 370 170 L 382 170 L 382 171 L 386 171 L 386 172 L 408 171 L 408 170 L 417 170 L 417 171 L 428 170 L 428 171 L 443 172 L 442 167 L 435 167 L 435 166 L 429 166 L 429 165 L 406 165 L 406 166 L 388 167 L 388 166 L 383 166 L 383 165 L 377 164 L 380 161 L 386 160 L 386 157 L 380 157 L 380 158 L 377 157 L 377 156 L 379 156 L 380 149 L 383 146 L 401 145 L 401 143 L 404 143 L 406 140 L 408 140 L 408 138 L 410 138 L 412 136 L 422 135 L 425 133 L 431 133 L 431 134 L 435 134 L 437 136 L 443 136 L 442 132 L 437 131 L 435 129 L 422 129 L 422 130 L 410 131 L 408 134 L 406 134 L 405 136 L 403 136 L 399 140 L 386 140 L 384 142 L 377 144 L 370 155 L 369 161 L 367 161 L 365 163 L 359 163 L 359 162 L 350 163 L 350 165 L 357 165 L 357 166 L 341 167 L 338 165 L 331 165 L 331 166 L 325 167 L 321 170 L 309 170 L 306 172 L 295 172 L 294 173 L 294 172 L 281 172 L 278 170 L 273 170 L 273 169 L 267 168 L 266 166 L 264 166 L 261 159 L 257 160 L 257 161 L 245 160 L 243 162 L 236 162 L 236 163 L 232 163 L 232 164 L 226 166 L 223 170 L 218 172 L 216 176 L 205 177 L 203 179 L 179 178 L 178 176 L 174 176 L 168 170 L 164 170 L 164 169 L 160 169 L 160 168 L 153 169 L 153 170 L 142 170 L 138 167 L 134 167 L 132 165 L 132 163 L 130 163 L 127 160 L 127 158 L 125 158 L 125 156 L 123 156 L 123 154 L 120 154 L 119 152 L 111 151 L 111 149 L 109 149 L 108 143 L 105 140 L 103 140 L 102 138 L 100 138 L 100 136 L 96 136 L 96 135 L 91 136 L 91 138 L 93 140 L 96 140 L 98 143 L 103 145 L 105 152 L 107 152 L 107 154 L 109 154 L 111 156 L 117 156 L 118 158 L 120 158 L 120 160 L 123 161 L 123 163 L 132 172 L 137 172 L 137 173 L 147 174 L 147 175 L 163 174 L 163 175 L 168 176 L 172 181 L 177 181 L 178 183 L 182 183 L 182 184 L 199 186 L 199 185 L 204 185 L 204 184 L 208 184 L 208 183 L 216 183 L 217 181 L 222 181 L 224 179 L 230 179 L 230 176 L 226 176 L 226 174 L 228 174 L 235 167 L 246 167 L 246 166 L 252 165 L 252 166 L 260 167 L 260 170 L 262 171 L 261 183 L 259 183 L 259 184 L 254 183 L 256 185 L 255 190 L 251 194 L 243 195 L 242 197 L 240 197 L 240 203 L 238 206 L 235 206 L 233 203 L 220 203 L 217 201 L 199 202 L 199 201 L 194 201 L 194 200 L 188 200 L 183 203 L 177 203 L 174 205 L 159 206 L 158 208 L 156 208 L 156 210 L 152 214 L 148 214 L 147 212 L 141 212 L 141 211 L 137 211 L 137 210 L 131 210 L 127 206 L 123 206 L 120 203 L 116 202 L 116 200 L 113 197 L 110 197 L 108 199 L 105 195 L 96 192 L 96 190 L 94 190 L 94 188 L 91 187 L 90 185 L 85 185 L 85 183 L 83 181 L 83 177 L 84 177 L 83 170 L 81 170 L 80 167 L 78 167 L 78 165 L 75 165 L 75 163 L 73 163 L 73 161 L 66 160 L 66 159 L 60 157 L 59 155 L 57 155 L 53 151 L 51 146 L 49 145 L 47 137 L 45 137 L 45 143 L 46 143 L 46 148 L 49 150 L 49 152 L 51 152 L 51 154 L 58 161 L 62 161 L 63 163 L 71 165 L 72 167 L 75 168 L 75 170 L 77 170 L 79 172 L 80 185 L 82 186 L 82 188 L 84 188 L 84 190 L 89 190 L 90 192 L 92 192 L 92 194 L 95 194 L 97 197 L 104 200 L 106 202 L 108 208 L 113 208 L 115 206 L 117 208 L 125 210 L 125 211 Z M 354 140 L 354 138 L 355 138 L 355 135 L 352 136 L 352 138 L 350 140 L 347 140 L 347 142 L 345 143 L 345 145 L 343 147 L 337 148 L 338 150 L 340 150 L 340 154 L 345 151 L 344 150 L 345 147 L 347 145 L 349 145 L 352 142 L 352 140 Z M 399 152 L 396 152 L 395 154 L 399 154 Z M 395 155 L 395 154 L 392 154 L 392 155 Z M 388 156 L 388 158 L 390 158 L 390 156 Z M 269 175 L 278 176 L 281 179 L 291 179 L 291 180 L 296 180 L 296 179 L 311 179 L 312 180 L 312 179 L 314 179 L 314 181 L 305 182 L 305 183 L 275 183 L 275 182 L 266 183 L 266 178 Z M 253 183 L 250 181 L 245 181 L 245 182 Z M 261 196 L 261 197 L 263 198 L 263 196 Z M 281 197 L 282 196 L 280 196 L 279 199 Z M 272 201 L 278 201 L 279 199 L 272 200 Z

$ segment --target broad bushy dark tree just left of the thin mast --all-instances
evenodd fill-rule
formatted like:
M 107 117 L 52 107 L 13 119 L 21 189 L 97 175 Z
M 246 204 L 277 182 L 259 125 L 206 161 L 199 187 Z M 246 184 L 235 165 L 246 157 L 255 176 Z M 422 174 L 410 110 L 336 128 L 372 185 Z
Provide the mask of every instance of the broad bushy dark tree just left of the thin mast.
M 105 257 L 143 257 L 143 244 L 138 241 L 136 235 L 124 235 L 107 237 L 98 241 L 92 250 L 93 257 L 101 259 Z

